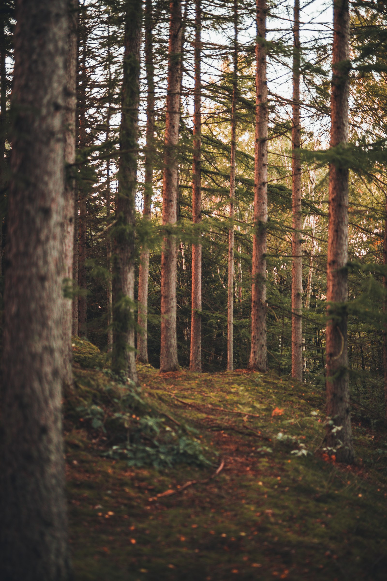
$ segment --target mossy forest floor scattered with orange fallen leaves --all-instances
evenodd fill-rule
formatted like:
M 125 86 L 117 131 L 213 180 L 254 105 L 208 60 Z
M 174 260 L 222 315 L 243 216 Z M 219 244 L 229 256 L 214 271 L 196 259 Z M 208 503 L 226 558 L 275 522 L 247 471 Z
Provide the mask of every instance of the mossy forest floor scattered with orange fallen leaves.
M 75 389 L 98 374 L 75 365 Z M 77 581 L 385 581 L 387 433 L 369 410 L 353 418 L 349 467 L 321 449 L 321 388 L 272 373 L 151 367 L 139 381 L 172 425 L 198 430 L 213 465 L 128 467 L 101 457 L 107 436 L 65 416 Z M 179 492 L 191 480 L 207 481 Z

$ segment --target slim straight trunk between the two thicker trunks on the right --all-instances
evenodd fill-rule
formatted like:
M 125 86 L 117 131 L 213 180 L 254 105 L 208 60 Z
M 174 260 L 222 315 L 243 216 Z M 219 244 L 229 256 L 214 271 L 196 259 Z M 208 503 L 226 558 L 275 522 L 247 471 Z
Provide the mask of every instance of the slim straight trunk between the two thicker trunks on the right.
M 302 225 L 301 158 L 299 154 L 299 0 L 294 2 L 293 120 L 292 120 L 292 377 L 302 381 Z

